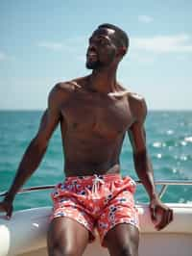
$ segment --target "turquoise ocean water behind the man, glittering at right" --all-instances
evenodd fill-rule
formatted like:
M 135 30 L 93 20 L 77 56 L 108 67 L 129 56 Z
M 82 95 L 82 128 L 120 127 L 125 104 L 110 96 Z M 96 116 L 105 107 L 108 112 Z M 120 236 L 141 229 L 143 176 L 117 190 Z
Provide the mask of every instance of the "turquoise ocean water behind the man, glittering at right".
M 12 184 L 22 155 L 36 135 L 41 115 L 40 111 L 0 111 L 0 192 L 7 191 Z M 155 179 L 192 180 L 192 112 L 149 112 L 145 127 Z M 24 187 L 59 183 L 64 179 L 63 162 L 59 127 L 40 166 Z M 121 153 L 121 169 L 123 175 L 129 174 L 137 180 L 128 137 Z M 156 189 L 159 191 L 160 186 Z M 51 205 L 50 192 L 17 194 L 14 209 Z M 148 201 L 148 195 L 141 185 L 137 186 L 135 201 Z M 162 201 L 191 202 L 192 186 L 169 186 Z

